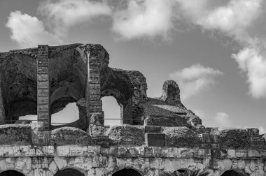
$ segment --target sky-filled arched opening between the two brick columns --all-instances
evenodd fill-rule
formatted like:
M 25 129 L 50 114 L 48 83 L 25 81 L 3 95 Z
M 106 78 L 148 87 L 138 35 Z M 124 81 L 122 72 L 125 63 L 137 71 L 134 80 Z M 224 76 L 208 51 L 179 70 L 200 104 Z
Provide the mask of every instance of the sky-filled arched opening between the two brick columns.
M 69 124 L 79 119 L 78 106 L 76 103 L 69 103 L 59 112 L 51 115 L 51 124 L 53 126 Z

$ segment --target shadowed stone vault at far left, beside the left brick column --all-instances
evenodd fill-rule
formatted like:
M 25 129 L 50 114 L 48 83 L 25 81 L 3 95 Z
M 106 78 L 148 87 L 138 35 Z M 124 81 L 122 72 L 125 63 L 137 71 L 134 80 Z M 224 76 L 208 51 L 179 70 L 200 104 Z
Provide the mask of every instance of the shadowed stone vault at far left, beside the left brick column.
M 1 62 L 1 88 L 6 120 L 36 115 L 36 58 L 29 54 L 8 54 Z

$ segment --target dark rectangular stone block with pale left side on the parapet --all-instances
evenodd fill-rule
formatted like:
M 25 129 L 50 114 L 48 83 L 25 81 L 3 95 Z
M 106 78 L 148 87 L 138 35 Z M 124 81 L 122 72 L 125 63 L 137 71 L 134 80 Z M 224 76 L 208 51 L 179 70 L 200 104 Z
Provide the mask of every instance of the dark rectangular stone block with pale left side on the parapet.
M 145 133 L 146 146 L 165 147 L 165 133 Z

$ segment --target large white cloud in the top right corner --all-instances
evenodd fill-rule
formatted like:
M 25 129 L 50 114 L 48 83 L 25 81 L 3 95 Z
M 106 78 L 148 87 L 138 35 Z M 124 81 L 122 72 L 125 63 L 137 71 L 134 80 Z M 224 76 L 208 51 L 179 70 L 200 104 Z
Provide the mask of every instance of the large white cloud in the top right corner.
M 253 42 L 247 29 L 262 14 L 262 0 L 230 0 L 211 6 L 212 0 L 176 0 L 183 15 L 203 29 L 221 31 L 240 42 Z

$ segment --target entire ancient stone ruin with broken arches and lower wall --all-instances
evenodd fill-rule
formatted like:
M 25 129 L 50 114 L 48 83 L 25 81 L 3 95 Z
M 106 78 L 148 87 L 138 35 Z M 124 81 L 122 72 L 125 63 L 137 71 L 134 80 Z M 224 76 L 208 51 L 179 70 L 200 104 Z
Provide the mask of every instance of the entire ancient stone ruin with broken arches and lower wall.
M 0 176 L 265 175 L 258 129 L 202 126 L 173 80 L 147 97 L 144 75 L 109 67 L 102 45 L 11 50 L 0 64 Z M 120 126 L 104 126 L 104 96 L 120 105 Z M 79 119 L 53 126 L 51 115 L 73 102 Z

